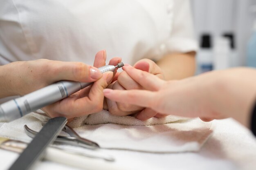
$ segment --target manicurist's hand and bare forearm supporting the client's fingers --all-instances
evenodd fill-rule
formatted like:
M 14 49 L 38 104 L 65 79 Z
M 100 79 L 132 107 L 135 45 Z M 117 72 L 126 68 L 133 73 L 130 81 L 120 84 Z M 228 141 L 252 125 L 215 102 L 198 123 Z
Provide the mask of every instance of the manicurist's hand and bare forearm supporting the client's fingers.
M 145 62 L 147 62 L 147 64 L 143 64 Z M 149 59 L 142 59 L 135 63 L 134 67 L 147 71 L 160 79 L 183 79 L 195 73 L 195 52 L 169 54 L 162 57 L 162 59 L 156 63 Z M 118 90 L 144 89 L 143 86 L 134 81 L 124 71 L 118 75 L 117 81 L 110 84 L 108 88 Z M 136 118 L 140 120 L 146 120 L 154 116 L 165 116 L 149 108 L 115 102 L 110 99 L 106 99 L 104 109 L 109 110 L 112 115 L 118 116 L 137 114 Z

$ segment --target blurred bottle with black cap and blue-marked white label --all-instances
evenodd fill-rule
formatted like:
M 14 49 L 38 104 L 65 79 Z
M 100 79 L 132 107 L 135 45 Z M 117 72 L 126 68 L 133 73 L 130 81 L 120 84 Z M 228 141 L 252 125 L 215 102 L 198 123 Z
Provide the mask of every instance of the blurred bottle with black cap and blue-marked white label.
M 197 53 L 197 74 L 212 71 L 213 69 L 213 51 L 211 35 L 202 34 L 200 38 L 200 50 Z

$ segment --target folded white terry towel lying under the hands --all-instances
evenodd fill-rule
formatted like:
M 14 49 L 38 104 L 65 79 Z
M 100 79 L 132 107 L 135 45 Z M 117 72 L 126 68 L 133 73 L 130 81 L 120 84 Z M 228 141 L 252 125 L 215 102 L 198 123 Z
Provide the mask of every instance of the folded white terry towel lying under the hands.
M 39 131 L 41 122 L 49 117 L 30 113 L 0 127 L 0 136 L 30 141 L 23 129 L 25 124 Z M 169 116 L 139 121 L 135 117 L 117 117 L 102 111 L 88 117 L 76 118 L 70 123 L 74 130 L 105 149 L 136 150 L 142 152 L 198 151 L 211 135 L 211 123 L 200 119 Z M 82 125 L 78 127 L 78 125 Z M 61 132 L 61 135 L 67 135 Z

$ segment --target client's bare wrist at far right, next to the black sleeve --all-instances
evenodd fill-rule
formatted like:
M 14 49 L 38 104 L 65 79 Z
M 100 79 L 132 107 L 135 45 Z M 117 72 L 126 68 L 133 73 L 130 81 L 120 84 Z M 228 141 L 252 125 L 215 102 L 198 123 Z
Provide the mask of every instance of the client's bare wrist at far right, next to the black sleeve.
M 218 74 L 218 75 L 217 75 Z M 234 68 L 216 71 L 213 85 L 214 112 L 220 118 L 232 117 L 249 127 L 250 115 L 255 104 L 256 80 L 252 79 L 256 71 L 248 68 Z

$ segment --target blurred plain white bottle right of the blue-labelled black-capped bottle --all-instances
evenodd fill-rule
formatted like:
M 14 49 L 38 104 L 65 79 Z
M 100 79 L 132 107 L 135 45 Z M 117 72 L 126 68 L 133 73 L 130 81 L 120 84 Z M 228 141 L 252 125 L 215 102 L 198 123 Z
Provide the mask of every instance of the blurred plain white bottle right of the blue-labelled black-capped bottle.
M 213 68 L 223 70 L 230 67 L 231 49 L 230 41 L 224 37 L 217 37 L 213 46 Z

